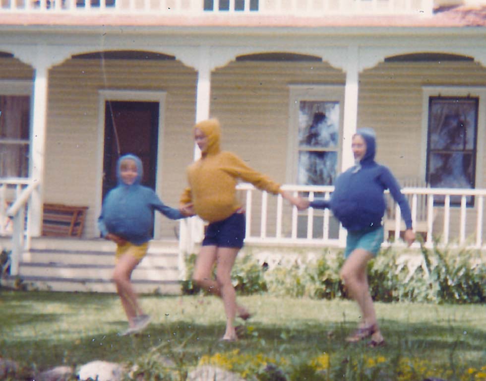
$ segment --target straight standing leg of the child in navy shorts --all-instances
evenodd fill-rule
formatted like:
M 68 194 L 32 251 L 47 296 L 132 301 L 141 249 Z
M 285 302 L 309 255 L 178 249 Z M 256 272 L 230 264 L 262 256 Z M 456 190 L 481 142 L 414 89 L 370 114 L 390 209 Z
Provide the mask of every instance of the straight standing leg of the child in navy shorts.
M 237 312 L 236 292 L 231 283 L 231 269 L 239 251 L 238 248 L 218 248 L 217 251 L 216 281 L 226 312 L 226 331 L 223 340 L 237 339 L 234 325 Z

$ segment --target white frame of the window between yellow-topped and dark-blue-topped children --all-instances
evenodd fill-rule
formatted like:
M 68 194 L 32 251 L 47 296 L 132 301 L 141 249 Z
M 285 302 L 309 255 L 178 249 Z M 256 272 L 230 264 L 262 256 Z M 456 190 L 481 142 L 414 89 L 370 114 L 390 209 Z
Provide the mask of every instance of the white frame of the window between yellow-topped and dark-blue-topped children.
M 336 176 L 339 175 L 342 163 L 342 136 L 344 120 L 344 85 L 324 84 L 290 84 L 289 85 L 289 140 L 286 180 L 289 184 L 297 184 L 299 172 L 299 107 L 301 101 L 311 102 L 338 102 L 339 127 L 338 143 L 335 149 L 322 149 L 317 151 L 336 152 Z M 308 151 L 316 151 L 309 149 Z

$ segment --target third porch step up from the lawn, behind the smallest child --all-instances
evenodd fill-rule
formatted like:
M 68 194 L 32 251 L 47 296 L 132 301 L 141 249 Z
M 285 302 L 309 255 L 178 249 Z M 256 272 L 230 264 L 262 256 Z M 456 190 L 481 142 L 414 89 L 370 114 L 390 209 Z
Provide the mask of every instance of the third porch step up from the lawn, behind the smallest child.
M 178 253 L 149 252 L 142 259 L 138 267 L 177 266 Z M 115 253 L 112 251 L 62 251 L 31 249 L 24 253 L 23 263 L 64 263 L 64 264 L 110 264 L 115 263 Z

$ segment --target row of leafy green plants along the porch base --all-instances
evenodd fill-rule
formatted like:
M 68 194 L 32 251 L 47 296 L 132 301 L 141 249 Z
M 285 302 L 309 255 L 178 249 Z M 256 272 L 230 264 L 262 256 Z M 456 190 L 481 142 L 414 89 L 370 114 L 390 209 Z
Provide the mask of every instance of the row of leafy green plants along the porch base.
M 192 274 L 195 255 L 187 258 Z M 267 268 L 251 255 L 238 256 L 232 281 L 239 294 L 314 299 L 346 298 L 339 270 L 344 258 L 323 252 L 315 260 L 295 261 Z M 486 264 L 479 251 L 434 245 L 419 253 L 387 248 L 368 263 L 371 297 L 381 302 L 485 303 Z M 190 278 L 182 284 L 185 294 L 199 292 Z

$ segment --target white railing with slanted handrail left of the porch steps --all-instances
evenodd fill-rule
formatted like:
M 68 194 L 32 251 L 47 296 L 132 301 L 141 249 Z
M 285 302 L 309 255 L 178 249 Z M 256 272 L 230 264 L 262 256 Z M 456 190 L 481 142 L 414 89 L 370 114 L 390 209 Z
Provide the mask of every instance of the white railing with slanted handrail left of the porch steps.
M 30 179 L 0 180 L 0 235 L 12 237 L 10 274 L 18 274 L 25 242 L 30 237 L 25 229 L 26 205 L 38 183 Z

